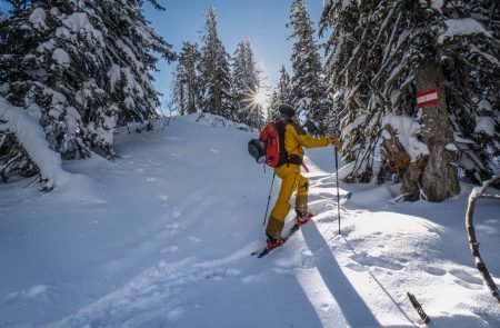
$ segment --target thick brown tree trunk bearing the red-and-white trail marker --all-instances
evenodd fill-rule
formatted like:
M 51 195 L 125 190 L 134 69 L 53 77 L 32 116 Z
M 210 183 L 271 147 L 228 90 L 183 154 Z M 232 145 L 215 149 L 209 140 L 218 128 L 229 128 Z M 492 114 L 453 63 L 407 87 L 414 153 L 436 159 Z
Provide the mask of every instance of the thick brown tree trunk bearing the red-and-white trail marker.
M 438 90 L 438 102 L 420 109 L 422 141 L 429 148 L 421 188 L 429 201 L 442 201 L 460 192 L 457 167 L 452 165 L 456 155 L 446 149 L 453 141 L 453 131 L 448 120 L 442 67 L 438 62 L 424 62 L 416 69 L 414 78 L 417 93 Z

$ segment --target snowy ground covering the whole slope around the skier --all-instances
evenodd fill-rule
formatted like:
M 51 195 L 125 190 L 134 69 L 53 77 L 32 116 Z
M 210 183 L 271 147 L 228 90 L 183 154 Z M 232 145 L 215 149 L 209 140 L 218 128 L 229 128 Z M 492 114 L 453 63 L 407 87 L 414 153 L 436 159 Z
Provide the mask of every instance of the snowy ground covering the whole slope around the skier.
M 392 205 L 394 188 L 341 185 L 354 196 L 339 235 L 333 151 L 314 149 L 317 216 L 257 259 L 271 171 L 248 156 L 252 133 L 197 118 L 119 135 L 120 159 L 64 163 L 50 193 L 0 185 L 0 327 L 422 326 L 407 291 L 432 327 L 500 327 L 468 248 L 471 186 Z M 500 203 L 474 218 L 500 285 Z

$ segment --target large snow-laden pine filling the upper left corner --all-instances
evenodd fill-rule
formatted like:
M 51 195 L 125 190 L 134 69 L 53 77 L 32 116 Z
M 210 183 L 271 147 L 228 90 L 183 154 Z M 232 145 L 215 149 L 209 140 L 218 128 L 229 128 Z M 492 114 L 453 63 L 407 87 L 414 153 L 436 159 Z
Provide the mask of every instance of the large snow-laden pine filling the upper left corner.
M 66 159 L 88 157 L 89 143 L 111 152 L 114 122 L 112 113 L 102 110 L 107 95 L 94 79 L 104 62 L 101 30 L 88 1 L 57 0 L 14 10 L 0 29 L 1 96 L 26 108 L 43 127 L 50 147 Z M 98 136 L 86 129 L 94 118 Z

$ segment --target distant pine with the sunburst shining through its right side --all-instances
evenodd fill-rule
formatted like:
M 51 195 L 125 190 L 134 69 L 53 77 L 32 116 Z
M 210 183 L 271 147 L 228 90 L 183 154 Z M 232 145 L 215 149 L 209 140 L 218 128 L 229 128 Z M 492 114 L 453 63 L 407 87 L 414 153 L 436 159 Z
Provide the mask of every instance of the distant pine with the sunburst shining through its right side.
M 263 122 L 262 103 L 256 99 L 262 92 L 260 70 L 250 43 L 246 40 L 238 43 L 232 59 L 231 99 L 234 120 L 252 128 Z

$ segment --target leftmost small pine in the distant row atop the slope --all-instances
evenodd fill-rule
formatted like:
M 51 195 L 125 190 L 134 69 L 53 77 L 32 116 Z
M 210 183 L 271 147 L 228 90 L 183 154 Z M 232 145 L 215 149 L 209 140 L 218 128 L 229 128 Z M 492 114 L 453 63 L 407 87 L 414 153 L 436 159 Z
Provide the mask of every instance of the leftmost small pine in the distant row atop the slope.
M 200 56 L 197 43 L 182 43 L 173 83 L 173 102 L 180 115 L 198 111 L 201 89 L 198 80 Z

